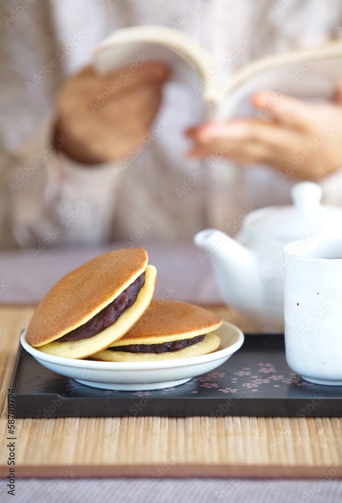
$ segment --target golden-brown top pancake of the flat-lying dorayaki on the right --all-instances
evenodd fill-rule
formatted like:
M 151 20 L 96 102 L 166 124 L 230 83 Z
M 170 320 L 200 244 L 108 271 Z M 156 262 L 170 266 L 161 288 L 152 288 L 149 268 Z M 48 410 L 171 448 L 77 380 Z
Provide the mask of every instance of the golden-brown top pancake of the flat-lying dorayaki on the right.
M 211 332 L 222 319 L 202 307 L 174 300 L 153 299 L 145 314 L 119 341 L 127 344 L 159 344 Z

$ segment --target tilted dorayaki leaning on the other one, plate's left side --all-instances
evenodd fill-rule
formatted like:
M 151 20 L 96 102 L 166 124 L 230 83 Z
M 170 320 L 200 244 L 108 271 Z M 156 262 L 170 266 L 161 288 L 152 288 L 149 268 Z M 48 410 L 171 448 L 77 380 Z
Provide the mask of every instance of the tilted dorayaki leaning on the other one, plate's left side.
M 111 346 L 148 308 L 157 271 L 141 248 L 109 251 L 60 279 L 37 306 L 27 342 L 50 355 L 86 358 Z

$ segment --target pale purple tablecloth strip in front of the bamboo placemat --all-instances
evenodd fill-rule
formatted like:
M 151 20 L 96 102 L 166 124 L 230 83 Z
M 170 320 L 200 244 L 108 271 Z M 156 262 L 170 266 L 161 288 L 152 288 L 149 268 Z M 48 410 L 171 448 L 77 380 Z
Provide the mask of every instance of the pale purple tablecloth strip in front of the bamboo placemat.
M 18 480 L 16 503 L 340 503 L 339 480 L 31 479 Z

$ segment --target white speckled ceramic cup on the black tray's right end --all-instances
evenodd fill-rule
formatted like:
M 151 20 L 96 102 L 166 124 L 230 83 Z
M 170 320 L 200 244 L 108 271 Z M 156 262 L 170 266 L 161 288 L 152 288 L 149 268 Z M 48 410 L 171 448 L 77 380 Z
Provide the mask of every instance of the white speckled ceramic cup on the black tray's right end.
M 342 239 L 282 249 L 286 360 L 306 381 L 342 385 Z

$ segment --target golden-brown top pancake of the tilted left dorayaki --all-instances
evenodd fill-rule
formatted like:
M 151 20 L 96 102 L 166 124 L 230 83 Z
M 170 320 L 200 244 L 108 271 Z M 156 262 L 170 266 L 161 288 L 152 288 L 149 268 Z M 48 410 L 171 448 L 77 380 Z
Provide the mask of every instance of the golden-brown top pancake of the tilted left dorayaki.
M 48 343 L 82 325 L 118 297 L 147 266 L 142 248 L 109 251 L 61 278 L 38 304 L 26 339 Z

